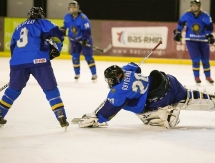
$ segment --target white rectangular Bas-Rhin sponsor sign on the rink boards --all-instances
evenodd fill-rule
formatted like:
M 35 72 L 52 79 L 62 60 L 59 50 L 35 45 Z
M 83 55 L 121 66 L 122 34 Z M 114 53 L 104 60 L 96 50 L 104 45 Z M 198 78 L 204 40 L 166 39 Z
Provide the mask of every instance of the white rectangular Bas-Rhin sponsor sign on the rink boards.
M 162 41 L 158 49 L 166 49 L 167 27 L 113 27 L 111 31 L 114 47 L 151 49 Z

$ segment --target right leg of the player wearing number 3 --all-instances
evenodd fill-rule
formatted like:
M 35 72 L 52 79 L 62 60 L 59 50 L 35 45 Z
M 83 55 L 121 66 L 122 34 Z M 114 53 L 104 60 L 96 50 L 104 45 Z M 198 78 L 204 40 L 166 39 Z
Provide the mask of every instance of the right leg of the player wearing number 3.
M 67 116 L 64 109 L 63 101 L 60 97 L 60 92 L 57 87 L 57 81 L 51 65 L 46 65 L 42 67 L 31 68 L 32 75 L 35 77 L 43 92 L 46 95 L 46 99 L 54 112 L 57 120 L 62 127 L 69 126 L 66 121 Z

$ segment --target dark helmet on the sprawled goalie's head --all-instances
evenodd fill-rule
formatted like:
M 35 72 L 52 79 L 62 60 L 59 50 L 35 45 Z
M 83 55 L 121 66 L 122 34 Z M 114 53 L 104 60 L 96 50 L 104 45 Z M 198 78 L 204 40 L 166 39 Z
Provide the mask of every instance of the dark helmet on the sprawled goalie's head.
M 124 73 L 122 68 L 117 65 L 108 67 L 104 71 L 105 81 L 108 83 L 109 88 L 121 83 Z

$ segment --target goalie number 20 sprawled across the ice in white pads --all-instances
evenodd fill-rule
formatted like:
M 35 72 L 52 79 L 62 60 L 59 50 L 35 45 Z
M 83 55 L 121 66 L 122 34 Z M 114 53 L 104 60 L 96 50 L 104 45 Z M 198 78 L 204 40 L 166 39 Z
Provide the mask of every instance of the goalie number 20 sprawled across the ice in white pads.
M 144 124 L 171 128 L 179 123 L 181 109 L 214 110 L 214 95 L 187 90 L 172 75 L 153 70 L 143 76 L 135 63 L 104 71 L 110 87 L 107 100 L 79 120 L 79 127 L 106 126 L 121 109 L 135 113 Z

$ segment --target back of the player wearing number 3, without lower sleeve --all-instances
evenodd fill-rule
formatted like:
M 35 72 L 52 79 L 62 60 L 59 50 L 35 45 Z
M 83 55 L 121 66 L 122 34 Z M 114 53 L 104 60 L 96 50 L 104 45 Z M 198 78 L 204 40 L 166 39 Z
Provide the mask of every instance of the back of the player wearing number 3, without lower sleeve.
M 46 19 L 28 19 L 19 24 L 12 36 L 10 60 L 11 66 L 35 64 L 35 59 L 49 60 L 49 44 L 43 40 L 43 34 L 55 27 Z

